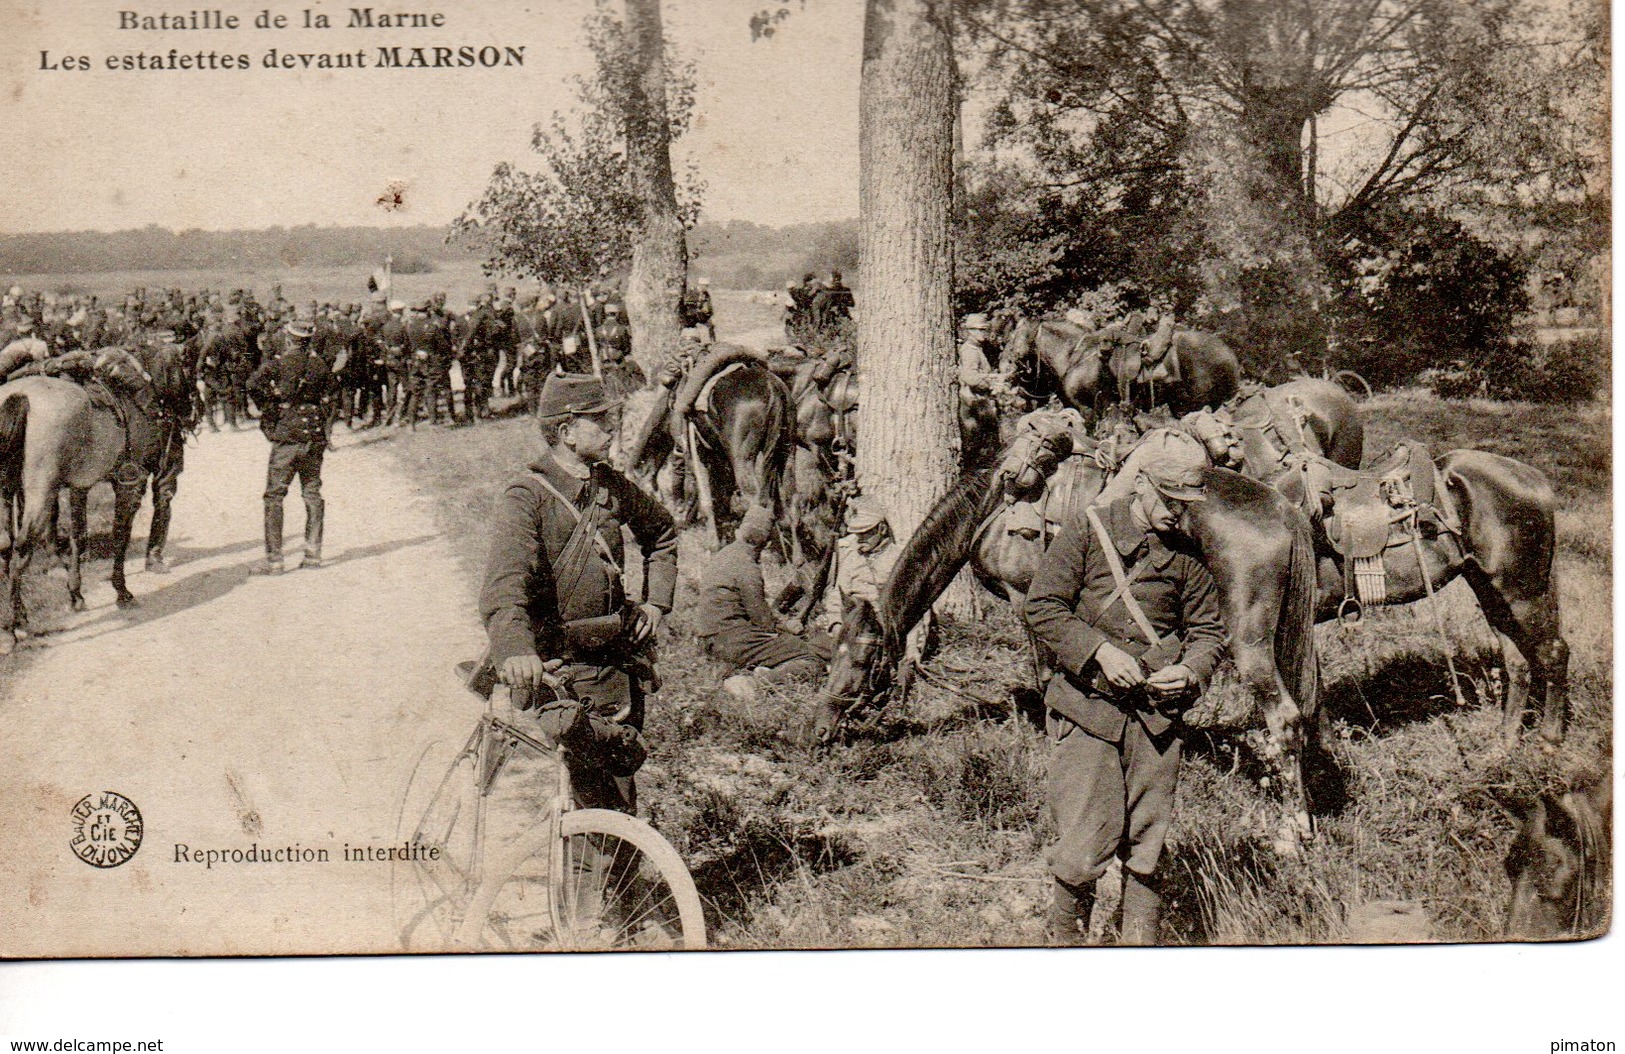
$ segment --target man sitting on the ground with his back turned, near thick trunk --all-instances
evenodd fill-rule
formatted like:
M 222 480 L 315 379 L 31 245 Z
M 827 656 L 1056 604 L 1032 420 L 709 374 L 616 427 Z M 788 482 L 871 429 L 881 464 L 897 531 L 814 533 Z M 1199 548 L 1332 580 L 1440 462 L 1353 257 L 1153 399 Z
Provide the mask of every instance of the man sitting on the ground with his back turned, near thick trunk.
M 700 645 L 713 659 L 752 672 L 759 684 L 816 680 L 824 674 L 830 641 L 821 633 L 803 640 L 778 629 L 762 583 L 762 549 L 772 538 L 774 515 L 752 505 L 734 539 L 723 546 L 700 577 L 694 622 Z M 754 697 L 754 685 L 730 679 L 730 692 Z

